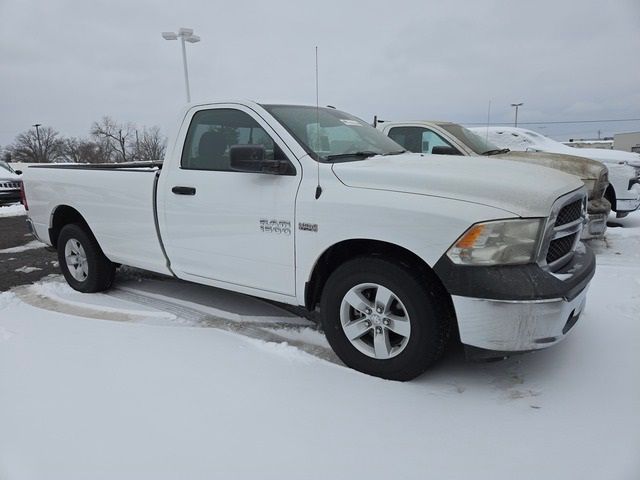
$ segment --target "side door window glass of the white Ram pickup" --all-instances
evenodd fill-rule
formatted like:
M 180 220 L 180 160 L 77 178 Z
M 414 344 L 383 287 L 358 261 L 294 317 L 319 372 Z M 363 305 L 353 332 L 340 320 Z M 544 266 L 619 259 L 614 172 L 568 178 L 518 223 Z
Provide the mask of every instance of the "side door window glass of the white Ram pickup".
M 287 160 L 284 152 L 250 115 L 240 110 L 201 110 L 191 119 L 180 166 L 190 170 L 232 172 L 234 145 L 262 145 L 267 160 Z

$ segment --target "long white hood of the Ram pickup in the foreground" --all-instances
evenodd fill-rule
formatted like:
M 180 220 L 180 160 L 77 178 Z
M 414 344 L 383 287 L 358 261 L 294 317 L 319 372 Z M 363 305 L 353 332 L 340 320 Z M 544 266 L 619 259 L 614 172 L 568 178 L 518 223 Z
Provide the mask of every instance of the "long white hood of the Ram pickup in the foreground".
M 332 165 L 349 187 L 478 203 L 521 217 L 546 217 L 583 183 L 558 170 L 501 159 L 406 153 Z

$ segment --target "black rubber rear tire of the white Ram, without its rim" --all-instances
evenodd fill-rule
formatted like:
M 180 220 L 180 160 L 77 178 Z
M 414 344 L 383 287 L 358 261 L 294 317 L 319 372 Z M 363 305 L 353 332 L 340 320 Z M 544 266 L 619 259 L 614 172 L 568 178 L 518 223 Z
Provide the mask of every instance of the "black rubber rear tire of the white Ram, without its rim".
M 65 248 L 69 241 L 78 242 L 86 254 L 87 274 L 84 279 L 74 278 L 65 258 Z M 74 290 L 83 293 L 102 292 L 113 284 L 115 265 L 104 256 L 98 241 L 84 226 L 75 223 L 65 225 L 58 237 L 58 262 L 67 283 Z

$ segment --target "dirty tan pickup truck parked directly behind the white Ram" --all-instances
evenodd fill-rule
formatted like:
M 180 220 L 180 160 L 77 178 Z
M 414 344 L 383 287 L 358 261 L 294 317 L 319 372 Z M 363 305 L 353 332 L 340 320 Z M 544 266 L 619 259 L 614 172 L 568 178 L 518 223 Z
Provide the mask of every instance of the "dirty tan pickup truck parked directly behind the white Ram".
M 588 223 L 582 238 L 604 236 L 611 204 L 604 198 L 609 185 L 607 167 L 584 157 L 541 152 L 511 152 L 500 149 L 486 138 L 451 122 L 384 122 L 377 127 L 411 152 L 447 155 L 492 156 L 503 160 L 532 163 L 575 175 L 587 187 Z

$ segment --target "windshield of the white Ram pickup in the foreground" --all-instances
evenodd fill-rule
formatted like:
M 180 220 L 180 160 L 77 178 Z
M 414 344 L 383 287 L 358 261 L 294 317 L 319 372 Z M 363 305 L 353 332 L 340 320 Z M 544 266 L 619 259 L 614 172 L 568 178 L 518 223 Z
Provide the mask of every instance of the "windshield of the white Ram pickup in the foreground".
M 263 107 L 302 144 L 307 153 L 320 161 L 353 161 L 405 151 L 371 125 L 340 110 L 294 105 Z

